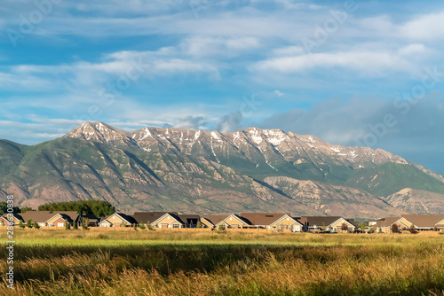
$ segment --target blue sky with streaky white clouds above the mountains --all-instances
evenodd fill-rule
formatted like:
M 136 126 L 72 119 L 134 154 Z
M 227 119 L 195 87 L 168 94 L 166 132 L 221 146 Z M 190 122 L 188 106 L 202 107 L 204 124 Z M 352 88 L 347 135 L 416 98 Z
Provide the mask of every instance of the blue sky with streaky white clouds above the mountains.
M 258 127 L 444 173 L 444 3 L 3 0 L 0 138 Z

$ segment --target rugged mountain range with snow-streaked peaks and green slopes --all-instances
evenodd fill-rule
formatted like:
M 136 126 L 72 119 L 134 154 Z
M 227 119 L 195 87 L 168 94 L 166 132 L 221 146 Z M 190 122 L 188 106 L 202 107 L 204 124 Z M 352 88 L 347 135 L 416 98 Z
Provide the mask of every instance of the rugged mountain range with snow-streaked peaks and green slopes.
M 444 176 L 369 147 L 280 129 L 115 129 L 84 122 L 36 145 L 0 140 L 0 198 L 101 199 L 120 211 L 444 213 Z

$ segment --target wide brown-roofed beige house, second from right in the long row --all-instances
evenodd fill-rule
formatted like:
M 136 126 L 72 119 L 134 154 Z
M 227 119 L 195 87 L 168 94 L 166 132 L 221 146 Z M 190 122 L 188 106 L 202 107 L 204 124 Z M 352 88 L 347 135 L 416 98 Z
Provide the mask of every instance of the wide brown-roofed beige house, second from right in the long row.
M 288 214 L 241 213 L 239 216 L 244 221 L 249 222 L 250 228 L 300 232 L 303 226 Z

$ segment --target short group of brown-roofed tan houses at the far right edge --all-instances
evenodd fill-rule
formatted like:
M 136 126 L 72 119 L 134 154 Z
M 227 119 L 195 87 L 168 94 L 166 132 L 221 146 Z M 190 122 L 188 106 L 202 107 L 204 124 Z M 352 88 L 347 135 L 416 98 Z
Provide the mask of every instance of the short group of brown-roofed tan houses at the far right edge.
M 392 226 L 402 230 L 444 230 L 444 214 L 402 214 L 369 222 L 369 227 L 377 232 L 390 233 Z

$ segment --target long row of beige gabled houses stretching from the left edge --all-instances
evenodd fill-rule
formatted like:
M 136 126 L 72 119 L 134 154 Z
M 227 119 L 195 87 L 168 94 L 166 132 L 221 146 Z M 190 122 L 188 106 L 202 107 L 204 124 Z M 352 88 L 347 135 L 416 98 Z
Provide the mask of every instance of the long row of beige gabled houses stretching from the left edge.
M 13 222 L 18 225 L 28 220 L 37 222 L 40 227 L 65 227 L 65 224 L 80 227 L 83 220 L 89 219 L 89 227 L 130 227 L 133 225 L 151 225 L 155 229 L 202 228 L 209 229 L 267 229 L 301 231 L 349 231 L 354 232 L 356 226 L 352 219 L 340 216 L 304 216 L 291 217 L 289 214 L 241 213 L 241 214 L 178 214 L 177 212 L 136 212 L 128 215 L 111 214 L 108 217 L 79 215 L 76 212 L 28 211 L 14 214 Z M 0 225 L 7 220 L 2 217 Z

